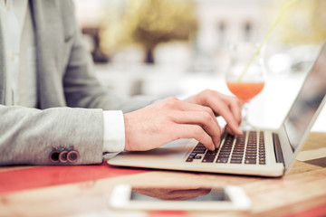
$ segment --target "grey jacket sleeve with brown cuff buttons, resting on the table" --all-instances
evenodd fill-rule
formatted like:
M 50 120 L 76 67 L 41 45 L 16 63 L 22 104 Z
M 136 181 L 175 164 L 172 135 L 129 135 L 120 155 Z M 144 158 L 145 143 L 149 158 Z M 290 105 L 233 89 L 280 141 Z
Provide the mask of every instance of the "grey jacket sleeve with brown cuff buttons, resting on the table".
M 52 165 L 53 148 L 74 149 L 74 164 L 102 161 L 101 109 L 0 106 L 0 165 Z M 86 124 L 87 123 L 87 124 Z

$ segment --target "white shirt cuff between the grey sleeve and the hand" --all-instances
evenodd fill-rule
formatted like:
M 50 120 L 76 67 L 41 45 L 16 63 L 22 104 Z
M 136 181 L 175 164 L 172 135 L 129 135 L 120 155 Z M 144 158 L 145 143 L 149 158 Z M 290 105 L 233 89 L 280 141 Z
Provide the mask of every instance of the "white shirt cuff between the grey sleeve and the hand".
M 104 110 L 103 152 L 120 152 L 125 147 L 123 113 L 120 110 Z

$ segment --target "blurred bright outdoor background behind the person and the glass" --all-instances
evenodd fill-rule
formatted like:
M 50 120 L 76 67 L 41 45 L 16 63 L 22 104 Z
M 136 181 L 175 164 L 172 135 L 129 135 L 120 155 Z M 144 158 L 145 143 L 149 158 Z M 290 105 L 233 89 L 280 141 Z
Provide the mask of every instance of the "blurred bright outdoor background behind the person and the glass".
M 290 0 L 75 0 L 95 72 L 110 91 L 184 99 L 225 84 L 230 42 L 259 43 Z M 279 127 L 326 39 L 326 1 L 298 0 L 264 48 L 267 82 L 250 105 L 256 127 Z M 321 119 L 312 128 L 326 131 Z

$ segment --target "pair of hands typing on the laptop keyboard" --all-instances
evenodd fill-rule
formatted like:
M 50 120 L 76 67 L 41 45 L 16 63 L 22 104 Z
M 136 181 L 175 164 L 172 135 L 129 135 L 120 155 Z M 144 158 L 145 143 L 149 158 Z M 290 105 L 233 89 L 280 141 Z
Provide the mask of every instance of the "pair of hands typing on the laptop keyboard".
M 219 146 L 222 128 L 216 116 L 225 118 L 225 129 L 241 135 L 241 102 L 213 90 L 181 101 L 168 98 L 124 115 L 126 151 L 145 151 L 178 138 L 195 138 L 209 150 Z

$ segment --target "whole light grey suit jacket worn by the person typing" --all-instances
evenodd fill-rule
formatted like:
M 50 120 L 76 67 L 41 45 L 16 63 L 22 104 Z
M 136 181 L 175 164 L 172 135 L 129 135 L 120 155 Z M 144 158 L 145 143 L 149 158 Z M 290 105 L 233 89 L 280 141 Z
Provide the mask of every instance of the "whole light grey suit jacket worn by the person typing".
M 127 112 L 153 99 L 127 99 L 101 87 L 83 48 L 72 1 L 30 3 L 37 46 L 39 108 L 0 105 L 0 165 L 60 165 L 50 160 L 55 148 L 76 150 L 79 158 L 71 163 L 74 165 L 101 163 L 102 109 Z M 0 78 L 4 78 L 6 71 L 1 66 Z M 4 87 L 0 85 L 0 99 L 5 95 Z

